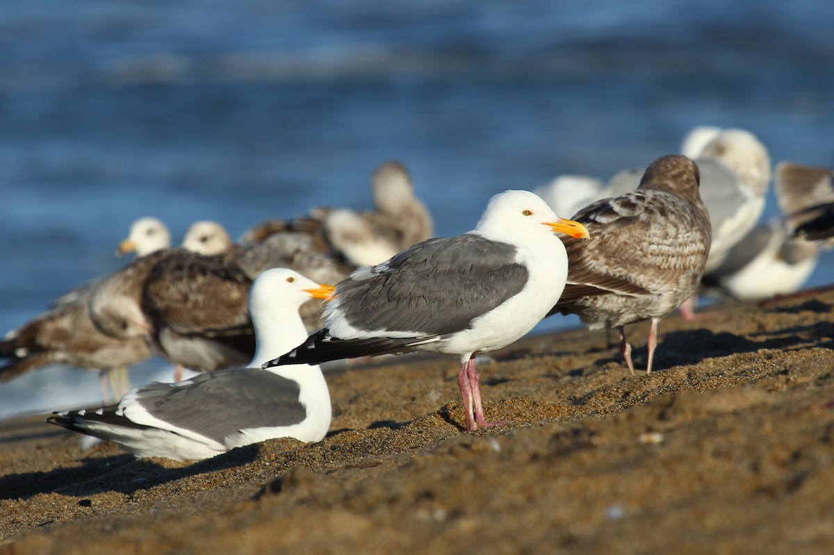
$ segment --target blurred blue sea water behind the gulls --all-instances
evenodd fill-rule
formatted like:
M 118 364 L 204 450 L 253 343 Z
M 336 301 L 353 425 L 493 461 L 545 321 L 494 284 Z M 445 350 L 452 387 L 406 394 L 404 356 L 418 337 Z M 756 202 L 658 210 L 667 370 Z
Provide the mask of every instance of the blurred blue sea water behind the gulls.
M 0 333 L 119 268 L 135 218 L 178 240 L 364 208 L 387 158 L 439 235 L 507 188 L 645 166 L 695 125 L 834 163 L 828 0 L 405 4 L 0 0 Z M 98 398 L 95 373 L 54 368 L 0 384 L 0 417 Z

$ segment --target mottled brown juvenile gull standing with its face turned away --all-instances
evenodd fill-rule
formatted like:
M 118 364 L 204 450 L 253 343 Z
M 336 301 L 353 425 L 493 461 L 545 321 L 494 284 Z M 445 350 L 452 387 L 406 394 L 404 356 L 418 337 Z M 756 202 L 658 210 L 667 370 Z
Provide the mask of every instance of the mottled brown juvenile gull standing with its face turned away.
M 651 320 L 651 372 L 657 323 L 696 292 L 710 251 L 698 167 L 681 155 L 658 158 L 636 191 L 591 204 L 575 219 L 590 239 L 565 239 L 567 283 L 550 314 L 575 313 L 590 329 L 617 328 L 632 374 L 625 324 Z

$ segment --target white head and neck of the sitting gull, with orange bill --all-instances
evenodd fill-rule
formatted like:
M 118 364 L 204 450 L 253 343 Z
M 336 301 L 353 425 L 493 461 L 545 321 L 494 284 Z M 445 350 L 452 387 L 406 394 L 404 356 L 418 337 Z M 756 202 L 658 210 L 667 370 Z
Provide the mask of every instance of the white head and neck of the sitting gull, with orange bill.
M 326 299 L 333 293 L 333 287 L 315 283 L 287 268 L 261 273 L 249 290 L 249 314 L 257 343 L 249 368 L 260 368 L 303 343 L 307 330 L 299 308 L 311 298 Z

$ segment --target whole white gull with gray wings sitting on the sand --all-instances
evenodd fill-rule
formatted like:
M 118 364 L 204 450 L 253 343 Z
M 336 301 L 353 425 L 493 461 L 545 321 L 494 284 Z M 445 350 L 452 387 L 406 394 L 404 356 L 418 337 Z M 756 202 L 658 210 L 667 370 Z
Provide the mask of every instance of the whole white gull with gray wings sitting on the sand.
M 317 442 L 327 433 L 331 414 L 319 367 L 260 367 L 304 341 L 301 304 L 332 293 L 332 287 L 292 270 L 268 270 L 249 297 L 258 349 L 247 368 L 150 383 L 118 404 L 53 413 L 47 422 L 119 443 L 137 457 L 177 460 L 214 457 L 270 438 Z

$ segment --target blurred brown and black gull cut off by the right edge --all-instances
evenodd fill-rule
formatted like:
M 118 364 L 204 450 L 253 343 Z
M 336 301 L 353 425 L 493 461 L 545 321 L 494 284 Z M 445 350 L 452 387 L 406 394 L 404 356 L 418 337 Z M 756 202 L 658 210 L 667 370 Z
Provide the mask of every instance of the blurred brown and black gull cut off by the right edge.
M 834 169 L 782 162 L 776 194 L 790 233 L 807 240 L 834 237 Z

